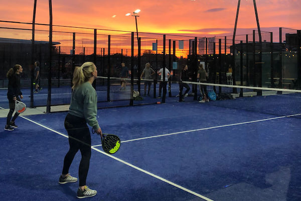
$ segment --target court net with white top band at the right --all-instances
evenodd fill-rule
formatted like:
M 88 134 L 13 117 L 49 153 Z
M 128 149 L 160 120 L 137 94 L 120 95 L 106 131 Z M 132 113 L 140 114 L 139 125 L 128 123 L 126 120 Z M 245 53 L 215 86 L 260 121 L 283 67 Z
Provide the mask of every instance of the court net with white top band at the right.
M 209 97 L 209 103 L 204 104 L 301 118 L 301 90 L 190 81 L 183 83 L 193 86 L 193 93 L 190 94 L 193 97 L 183 97 L 180 91 L 185 101 L 199 101 L 203 104 L 205 94 Z M 182 93 L 185 93 L 185 87 Z

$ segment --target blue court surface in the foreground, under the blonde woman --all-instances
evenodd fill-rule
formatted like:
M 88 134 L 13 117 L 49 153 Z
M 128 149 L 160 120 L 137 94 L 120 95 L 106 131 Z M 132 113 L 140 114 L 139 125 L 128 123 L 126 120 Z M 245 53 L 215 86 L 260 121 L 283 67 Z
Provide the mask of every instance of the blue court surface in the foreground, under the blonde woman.
M 92 136 L 87 200 L 301 200 L 301 119 L 181 102 L 98 110 L 107 155 Z M 64 113 L 19 117 L 0 134 L 1 200 L 76 200 L 59 184 L 68 152 Z M 6 118 L 0 119 L 1 125 Z M 70 173 L 78 177 L 80 152 Z

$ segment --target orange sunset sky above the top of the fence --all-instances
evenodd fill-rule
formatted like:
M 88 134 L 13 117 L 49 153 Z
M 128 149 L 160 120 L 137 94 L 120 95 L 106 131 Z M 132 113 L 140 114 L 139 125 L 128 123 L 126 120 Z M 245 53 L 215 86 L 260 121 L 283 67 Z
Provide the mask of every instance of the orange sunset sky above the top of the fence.
M 231 36 L 237 0 L 52 0 L 53 24 L 136 31 L 188 34 L 199 37 Z M 0 20 L 32 22 L 33 0 L 0 0 Z M 262 31 L 278 27 L 301 29 L 301 0 L 256 0 Z M 113 15 L 116 17 L 112 18 Z M 49 23 L 48 0 L 37 1 L 36 23 Z M 237 34 L 256 29 L 252 0 L 241 0 Z

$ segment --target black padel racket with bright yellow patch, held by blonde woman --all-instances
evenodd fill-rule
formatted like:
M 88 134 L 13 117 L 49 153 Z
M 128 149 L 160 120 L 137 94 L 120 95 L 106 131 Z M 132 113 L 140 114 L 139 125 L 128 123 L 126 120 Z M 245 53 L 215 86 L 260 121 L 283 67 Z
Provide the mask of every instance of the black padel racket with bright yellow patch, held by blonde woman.
M 92 129 L 92 133 L 95 133 L 94 129 Z M 114 154 L 120 148 L 120 138 L 116 135 L 102 134 L 101 145 L 104 152 Z

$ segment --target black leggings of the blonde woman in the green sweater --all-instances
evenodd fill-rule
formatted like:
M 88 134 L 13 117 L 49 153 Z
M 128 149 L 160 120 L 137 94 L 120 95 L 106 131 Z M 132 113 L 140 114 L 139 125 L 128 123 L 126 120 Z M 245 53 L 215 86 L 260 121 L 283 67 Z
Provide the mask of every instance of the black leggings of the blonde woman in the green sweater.
M 68 174 L 70 165 L 78 150 L 82 158 L 79 164 L 79 186 L 86 185 L 86 178 L 91 158 L 91 135 L 86 120 L 68 114 L 65 119 L 65 128 L 69 136 L 69 151 L 64 159 L 62 174 Z

